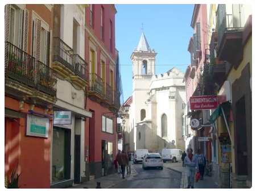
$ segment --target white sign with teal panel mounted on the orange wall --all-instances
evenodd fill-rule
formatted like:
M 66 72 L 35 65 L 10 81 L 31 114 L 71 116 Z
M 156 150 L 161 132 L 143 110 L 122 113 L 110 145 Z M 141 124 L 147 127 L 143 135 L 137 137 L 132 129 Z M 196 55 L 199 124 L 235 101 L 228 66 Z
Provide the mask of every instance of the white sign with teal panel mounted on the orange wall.
M 27 114 L 27 131 L 26 135 L 48 138 L 49 119 L 40 116 Z

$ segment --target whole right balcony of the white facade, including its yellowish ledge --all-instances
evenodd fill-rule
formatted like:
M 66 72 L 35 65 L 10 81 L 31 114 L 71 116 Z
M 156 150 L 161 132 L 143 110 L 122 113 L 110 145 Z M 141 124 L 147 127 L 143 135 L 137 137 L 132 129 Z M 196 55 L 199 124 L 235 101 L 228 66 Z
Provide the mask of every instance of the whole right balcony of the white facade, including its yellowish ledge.
M 82 88 L 88 82 L 87 63 L 79 55 L 72 56 L 72 65 L 74 68 L 74 75 L 71 76 L 73 84 Z

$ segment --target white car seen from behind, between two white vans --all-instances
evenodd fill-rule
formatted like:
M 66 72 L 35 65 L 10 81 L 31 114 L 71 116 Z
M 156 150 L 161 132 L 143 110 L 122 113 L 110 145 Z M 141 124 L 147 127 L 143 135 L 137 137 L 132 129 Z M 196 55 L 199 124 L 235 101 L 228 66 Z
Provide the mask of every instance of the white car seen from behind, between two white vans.
M 159 153 L 147 153 L 142 161 L 142 168 L 157 167 L 163 169 L 163 160 Z

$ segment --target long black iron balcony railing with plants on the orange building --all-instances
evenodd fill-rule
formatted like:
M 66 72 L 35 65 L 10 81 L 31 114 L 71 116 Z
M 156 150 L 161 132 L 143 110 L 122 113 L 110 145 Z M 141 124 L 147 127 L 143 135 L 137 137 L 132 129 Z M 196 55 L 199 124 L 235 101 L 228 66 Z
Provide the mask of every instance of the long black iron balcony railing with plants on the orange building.
M 55 72 L 35 57 L 10 42 L 5 42 L 5 74 L 7 77 L 56 97 Z

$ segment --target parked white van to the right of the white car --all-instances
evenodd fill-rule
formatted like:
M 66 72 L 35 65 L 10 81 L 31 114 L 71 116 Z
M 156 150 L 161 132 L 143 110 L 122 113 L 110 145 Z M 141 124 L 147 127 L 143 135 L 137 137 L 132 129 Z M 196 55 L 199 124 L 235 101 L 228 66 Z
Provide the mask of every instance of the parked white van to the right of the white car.
M 163 149 L 162 150 L 162 158 L 163 162 L 166 161 L 172 161 L 172 162 L 177 162 L 177 161 L 182 161 L 181 156 L 182 156 L 183 151 L 180 149 Z

